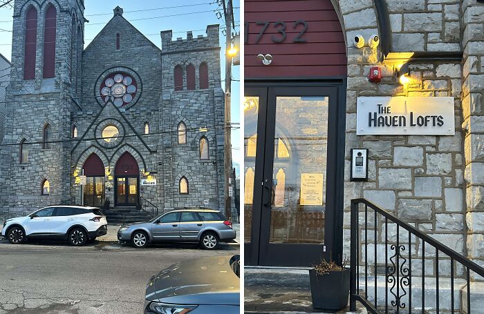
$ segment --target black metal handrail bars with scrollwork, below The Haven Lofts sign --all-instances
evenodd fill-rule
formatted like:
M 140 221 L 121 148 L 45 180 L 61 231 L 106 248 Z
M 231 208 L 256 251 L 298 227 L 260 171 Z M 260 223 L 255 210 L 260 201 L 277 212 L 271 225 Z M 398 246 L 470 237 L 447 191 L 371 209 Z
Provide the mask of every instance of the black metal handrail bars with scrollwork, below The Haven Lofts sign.
M 360 237 L 363 237 L 360 233 L 360 224 L 363 225 L 363 222 L 360 222 L 360 204 L 364 204 L 364 239 L 361 240 L 362 244 L 366 246 L 364 253 L 362 253 L 362 263 L 364 266 L 365 270 L 365 277 L 364 277 L 364 295 L 360 294 L 360 278 L 358 277 L 358 271 L 360 270 Z M 371 208 L 373 210 L 373 215 L 374 220 L 373 220 L 373 229 L 369 229 L 369 222 L 368 222 L 368 217 L 369 217 L 369 210 L 368 208 Z M 377 219 L 377 214 L 381 215 L 384 219 L 384 222 L 382 224 L 385 224 L 385 233 L 382 233 L 382 240 L 378 242 L 377 240 L 377 224 L 378 224 L 378 219 Z M 388 235 L 388 224 L 393 223 L 396 224 L 397 229 L 396 229 L 396 241 L 389 241 L 389 235 Z M 363 228 L 363 227 L 362 227 Z M 400 242 L 400 228 L 407 230 L 408 231 L 408 242 Z M 439 268 L 438 268 L 438 262 L 440 260 L 440 255 L 439 257 L 439 252 L 444 253 L 450 258 L 450 264 L 451 264 L 451 270 L 450 270 L 450 279 L 451 279 L 451 295 L 452 295 L 452 301 L 451 301 L 451 306 L 452 306 L 452 313 L 454 313 L 454 265 L 455 262 L 458 262 L 462 264 L 465 268 L 467 268 L 467 271 L 465 271 L 465 279 L 467 280 L 467 314 L 471 313 L 471 298 L 470 298 L 470 271 L 473 271 L 477 275 L 480 275 L 484 277 L 484 268 L 482 266 L 479 266 L 478 264 L 472 262 L 470 259 L 467 257 L 464 257 L 460 253 L 457 253 L 456 251 L 452 250 L 452 248 L 449 248 L 448 246 L 445 246 L 444 244 L 438 242 L 436 239 L 429 237 L 429 235 L 422 233 L 422 231 L 418 230 L 417 228 L 403 222 L 402 220 L 398 219 L 397 217 L 391 215 L 390 213 L 387 212 L 387 210 L 384 210 L 380 208 L 378 205 L 373 204 L 367 199 L 364 198 L 359 198 L 359 199 L 352 199 L 351 200 L 351 258 L 350 258 L 350 265 L 351 265 L 351 277 L 350 277 L 350 309 L 351 311 L 355 311 L 356 309 L 356 301 L 360 301 L 371 313 L 380 313 L 378 311 L 378 306 L 381 304 L 378 304 L 378 298 L 377 298 L 377 291 L 378 291 L 378 286 L 377 286 L 377 280 L 378 276 L 375 271 L 375 282 L 374 282 L 374 295 L 373 295 L 373 301 L 374 304 L 371 303 L 371 297 L 368 294 L 368 268 L 369 268 L 369 262 L 368 262 L 368 238 L 369 238 L 369 232 L 368 230 L 373 230 L 373 238 L 374 242 L 373 245 L 375 246 L 374 248 L 374 269 L 376 269 L 376 266 L 378 264 L 377 262 L 377 250 L 376 250 L 376 245 L 377 244 L 384 244 L 385 246 L 385 254 L 384 254 L 384 259 L 385 259 L 385 312 L 388 313 L 389 310 L 389 295 L 388 295 L 388 284 L 392 284 L 392 288 L 395 288 L 396 285 L 396 293 L 395 291 L 392 291 L 392 288 L 390 289 L 391 294 L 395 298 L 395 300 L 391 300 L 391 306 L 395 307 L 396 306 L 396 313 L 399 312 L 400 309 L 403 309 L 405 306 L 408 305 L 409 310 L 411 311 L 411 279 L 412 279 L 412 269 L 411 269 L 411 262 L 412 259 L 422 259 L 422 308 L 425 308 L 425 247 L 427 246 L 426 244 L 429 244 L 430 246 L 433 246 L 435 250 L 435 263 L 436 263 L 436 309 L 437 313 L 439 311 L 439 305 L 440 305 L 440 300 L 439 300 Z M 411 253 L 411 236 L 414 236 L 422 241 L 422 256 L 421 257 L 413 257 Z M 390 243 L 389 243 L 390 242 Z M 393 243 L 392 243 L 393 242 Z M 395 246 L 396 243 L 396 246 Z M 391 266 L 389 266 L 389 259 L 388 259 L 388 245 L 390 244 L 391 251 L 395 251 L 394 255 L 390 257 L 390 262 Z M 408 261 L 407 259 L 402 255 L 402 251 L 405 251 L 405 245 L 408 244 Z M 431 248 L 432 250 L 432 248 Z M 380 257 L 381 259 L 382 257 Z M 363 260 L 364 259 L 364 260 Z M 395 259 L 395 260 L 393 260 Z M 400 259 L 402 259 L 402 263 L 400 264 Z M 407 263 L 408 262 L 408 263 Z M 407 264 L 406 264 L 407 263 Z M 405 265 L 406 264 L 406 265 Z M 396 279 L 395 279 L 396 277 Z M 400 288 L 402 291 L 400 291 Z M 404 291 L 404 288 L 409 289 L 409 293 L 407 291 Z M 408 298 L 408 304 L 405 304 L 404 302 L 401 302 L 401 298 L 407 295 Z

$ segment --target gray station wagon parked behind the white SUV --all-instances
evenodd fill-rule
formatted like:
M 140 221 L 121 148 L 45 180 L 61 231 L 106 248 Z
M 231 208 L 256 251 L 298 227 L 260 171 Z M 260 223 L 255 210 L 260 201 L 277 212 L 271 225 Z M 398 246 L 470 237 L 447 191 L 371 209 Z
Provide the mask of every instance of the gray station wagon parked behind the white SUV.
M 230 222 L 219 210 L 184 208 L 142 222 L 121 226 L 120 242 L 131 242 L 143 248 L 154 242 L 198 242 L 201 248 L 214 250 L 219 242 L 235 239 L 236 233 Z

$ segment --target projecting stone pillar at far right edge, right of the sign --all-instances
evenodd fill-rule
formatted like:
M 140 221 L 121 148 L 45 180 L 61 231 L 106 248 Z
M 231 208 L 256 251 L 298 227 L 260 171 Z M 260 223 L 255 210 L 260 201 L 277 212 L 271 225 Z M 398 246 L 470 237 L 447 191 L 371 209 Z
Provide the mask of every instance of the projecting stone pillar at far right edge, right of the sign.
M 462 5 L 467 255 L 484 265 L 484 3 Z

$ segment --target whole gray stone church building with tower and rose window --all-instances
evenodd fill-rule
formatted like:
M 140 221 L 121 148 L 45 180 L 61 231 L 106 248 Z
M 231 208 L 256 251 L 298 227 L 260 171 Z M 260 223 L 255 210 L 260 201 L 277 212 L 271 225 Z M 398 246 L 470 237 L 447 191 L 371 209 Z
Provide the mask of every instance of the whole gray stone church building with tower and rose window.
M 84 48 L 84 1 L 16 0 L 0 215 L 75 202 L 223 207 L 218 25 L 162 49 L 123 17 Z

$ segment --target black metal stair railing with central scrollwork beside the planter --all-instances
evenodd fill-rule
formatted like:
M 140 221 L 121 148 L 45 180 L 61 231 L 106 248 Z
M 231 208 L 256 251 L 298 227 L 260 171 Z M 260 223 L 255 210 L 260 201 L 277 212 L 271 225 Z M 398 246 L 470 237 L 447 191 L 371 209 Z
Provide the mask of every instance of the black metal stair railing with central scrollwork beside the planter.
M 350 264 L 351 311 L 356 301 L 371 313 L 483 311 L 479 291 L 471 297 L 483 267 L 366 199 L 351 200 Z

